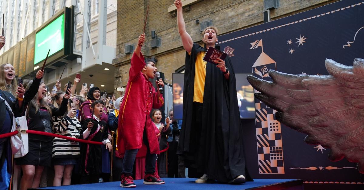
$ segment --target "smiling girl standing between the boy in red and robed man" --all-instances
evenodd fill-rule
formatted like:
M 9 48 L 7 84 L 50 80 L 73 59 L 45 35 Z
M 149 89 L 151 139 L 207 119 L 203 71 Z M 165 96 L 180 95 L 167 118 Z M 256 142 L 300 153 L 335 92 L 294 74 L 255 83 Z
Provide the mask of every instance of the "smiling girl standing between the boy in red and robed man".
M 169 134 L 170 132 L 170 128 L 169 128 L 169 118 L 166 119 L 166 123 L 167 125 L 165 126 L 165 124 L 163 124 L 161 122 L 162 120 L 162 112 L 159 109 L 155 109 L 152 112 L 152 118 L 154 121 L 155 126 L 158 128 L 159 130 L 159 136 L 158 136 L 158 140 L 159 140 L 159 151 L 161 151 L 160 155 L 158 156 L 158 174 L 161 177 L 168 177 L 167 176 L 167 154 L 166 154 L 166 150 L 168 148 L 168 143 L 167 143 L 167 134 Z

